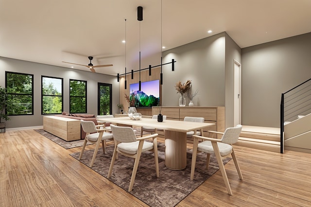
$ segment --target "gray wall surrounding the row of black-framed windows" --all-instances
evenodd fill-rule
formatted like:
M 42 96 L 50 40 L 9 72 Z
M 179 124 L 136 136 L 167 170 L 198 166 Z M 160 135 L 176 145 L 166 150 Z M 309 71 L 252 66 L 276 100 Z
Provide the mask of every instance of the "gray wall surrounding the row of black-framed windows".
M 34 75 L 34 115 L 10 116 L 6 128 L 42 126 L 41 115 L 41 75 L 63 78 L 64 111 L 69 112 L 69 79 L 87 81 L 87 113 L 97 115 L 97 85 L 98 83 L 112 84 L 112 113 L 118 112 L 120 84 L 115 76 L 100 73 L 62 68 L 40 63 L 0 57 L 0 86 L 5 87 L 5 71 L 20 72 Z

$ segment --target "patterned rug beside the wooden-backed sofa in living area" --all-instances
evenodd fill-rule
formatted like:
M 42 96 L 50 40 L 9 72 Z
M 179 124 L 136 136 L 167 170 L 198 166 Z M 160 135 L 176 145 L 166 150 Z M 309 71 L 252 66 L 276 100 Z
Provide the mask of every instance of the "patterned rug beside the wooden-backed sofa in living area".
M 74 141 L 65 141 L 64 139 L 56 137 L 56 136 L 50 134 L 49 132 L 44 131 L 43 129 L 34 129 L 34 130 L 37 133 L 43 135 L 44 137 L 52 140 L 56 144 L 64 147 L 65 149 L 70 149 L 70 148 L 74 148 L 74 147 L 81 147 L 81 146 L 83 146 L 84 139 L 74 140 Z M 135 131 L 136 136 L 140 137 L 140 128 L 134 128 L 134 131 Z M 145 135 L 145 134 L 148 134 L 148 133 L 144 132 L 143 134 Z M 90 144 L 92 144 L 92 143 L 90 143 L 90 142 L 86 143 L 86 145 L 90 145 Z

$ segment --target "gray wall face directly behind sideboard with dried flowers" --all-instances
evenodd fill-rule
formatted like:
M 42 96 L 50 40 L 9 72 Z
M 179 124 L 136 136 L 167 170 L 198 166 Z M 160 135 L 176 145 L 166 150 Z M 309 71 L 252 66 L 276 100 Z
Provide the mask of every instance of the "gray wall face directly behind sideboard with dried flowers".
M 192 82 L 192 92 L 198 90 L 194 106 L 225 106 L 225 33 L 165 51 L 162 56 L 163 63 L 176 60 L 175 71 L 171 64 L 162 69 L 163 106 L 179 106 L 175 83 L 187 80 Z

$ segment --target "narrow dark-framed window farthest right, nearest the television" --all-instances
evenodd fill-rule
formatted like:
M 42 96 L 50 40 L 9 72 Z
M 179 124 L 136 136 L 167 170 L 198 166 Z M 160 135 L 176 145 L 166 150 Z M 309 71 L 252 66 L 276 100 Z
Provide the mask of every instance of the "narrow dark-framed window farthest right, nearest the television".
M 112 114 L 112 91 L 111 84 L 98 83 L 98 115 Z

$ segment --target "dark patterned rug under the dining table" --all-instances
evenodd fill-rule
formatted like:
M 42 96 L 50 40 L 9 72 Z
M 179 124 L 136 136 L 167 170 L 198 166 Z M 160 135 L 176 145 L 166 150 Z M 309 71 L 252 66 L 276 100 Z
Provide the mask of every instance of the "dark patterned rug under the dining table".
M 103 151 L 99 150 L 91 169 L 107 177 L 113 148 L 113 145 L 107 146 L 106 154 L 103 154 Z M 155 175 L 153 153 L 148 151 L 141 155 L 134 187 L 130 192 L 151 207 L 173 207 L 177 205 L 190 192 L 199 187 L 212 174 L 219 170 L 215 155 L 210 155 L 209 169 L 206 170 L 206 154 L 200 153 L 197 155 L 194 179 L 190 180 L 192 150 L 187 149 L 187 168 L 182 171 L 172 171 L 165 167 L 164 151 L 164 144 L 158 144 L 160 173 L 158 178 Z M 85 151 L 80 162 L 89 166 L 93 153 L 93 150 Z M 70 155 L 78 159 L 80 152 Z M 230 159 L 230 157 L 227 157 L 224 160 L 224 164 Z M 133 165 L 134 160 L 132 158 L 119 155 L 119 159 L 115 161 L 113 173 L 109 180 L 127 191 Z

